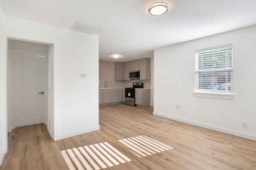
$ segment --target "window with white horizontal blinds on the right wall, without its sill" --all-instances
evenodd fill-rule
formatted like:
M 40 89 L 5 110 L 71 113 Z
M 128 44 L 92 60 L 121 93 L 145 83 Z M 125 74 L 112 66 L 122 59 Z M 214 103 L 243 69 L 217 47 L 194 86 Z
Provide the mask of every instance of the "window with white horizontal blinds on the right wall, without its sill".
M 195 90 L 233 91 L 233 45 L 195 52 Z

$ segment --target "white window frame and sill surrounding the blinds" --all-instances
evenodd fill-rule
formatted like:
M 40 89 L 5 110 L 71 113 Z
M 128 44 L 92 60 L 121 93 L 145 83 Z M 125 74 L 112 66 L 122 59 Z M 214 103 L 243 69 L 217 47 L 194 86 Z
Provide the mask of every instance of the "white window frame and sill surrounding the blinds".
M 232 68 L 229 69 L 218 69 L 219 72 L 223 71 L 223 72 L 228 72 L 230 71 L 231 73 L 231 89 L 230 91 L 227 90 L 215 90 L 215 89 L 199 89 L 198 85 L 198 81 L 199 81 L 199 73 L 204 73 L 204 72 L 208 72 L 208 73 L 214 73 L 216 72 L 216 70 L 212 70 L 212 71 L 199 71 L 199 52 L 202 51 L 209 51 L 209 50 L 215 50 L 215 49 L 221 49 L 221 48 L 227 48 L 227 47 L 232 47 Z M 200 49 L 200 50 L 196 50 L 195 51 L 195 61 L 194 61 L 194 95 L 197 97 L 212 97 L 212 98 L 221 98 L 221 99 L 232 99 L 234 97 L 234 93 L 233 93 L 233 44 L 228 44 L 228 45 L 221 45 L 221 46 L 217 46 L 217 47 L 211 47 L 211 48 L 206 48 L 206 49 Z

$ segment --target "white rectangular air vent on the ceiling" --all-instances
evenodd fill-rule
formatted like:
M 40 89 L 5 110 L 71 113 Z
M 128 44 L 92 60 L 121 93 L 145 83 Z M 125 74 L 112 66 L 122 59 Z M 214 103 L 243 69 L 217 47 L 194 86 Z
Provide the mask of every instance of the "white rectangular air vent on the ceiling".
M 70 29 L 71 31 L 81 32 L 84 34 L 94 35 L 96 32 L 102 30 L 100 27 L 91 26 L 82 22 L 76 22 L 76 24 Z

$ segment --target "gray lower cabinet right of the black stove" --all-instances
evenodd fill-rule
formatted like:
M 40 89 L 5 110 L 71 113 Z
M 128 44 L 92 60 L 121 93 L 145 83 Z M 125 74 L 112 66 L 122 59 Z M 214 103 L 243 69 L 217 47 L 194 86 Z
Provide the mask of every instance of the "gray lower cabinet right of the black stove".
M 150 89 L 135 89 L 135 104 L 140 107 L 150 106 Z

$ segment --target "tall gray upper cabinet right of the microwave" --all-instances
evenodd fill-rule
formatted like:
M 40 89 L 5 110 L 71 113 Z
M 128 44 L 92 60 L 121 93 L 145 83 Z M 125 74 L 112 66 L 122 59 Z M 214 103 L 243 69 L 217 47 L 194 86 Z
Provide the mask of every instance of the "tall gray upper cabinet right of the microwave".
M 140 80 L 150 80 L 150 58 L 140 59 Z

